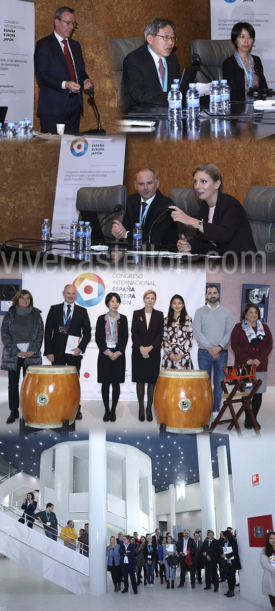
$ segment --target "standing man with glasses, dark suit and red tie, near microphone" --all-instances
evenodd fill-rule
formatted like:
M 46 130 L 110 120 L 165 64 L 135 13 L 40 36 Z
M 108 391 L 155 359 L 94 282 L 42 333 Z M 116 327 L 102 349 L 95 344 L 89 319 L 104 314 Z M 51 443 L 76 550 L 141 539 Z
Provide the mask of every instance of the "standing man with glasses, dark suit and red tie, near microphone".
M 56 123 L 65 123 L 65 134 L 78 132 L 82 87 L 94 85 L 86 73 L 81 46 L 71 39 L 77 25 L 73 9 L 62 6 L 54 15 L 54 32 L 35 46 L 34 69 L 40 82 L 37 112 L 43 133 L 56 134 Z

